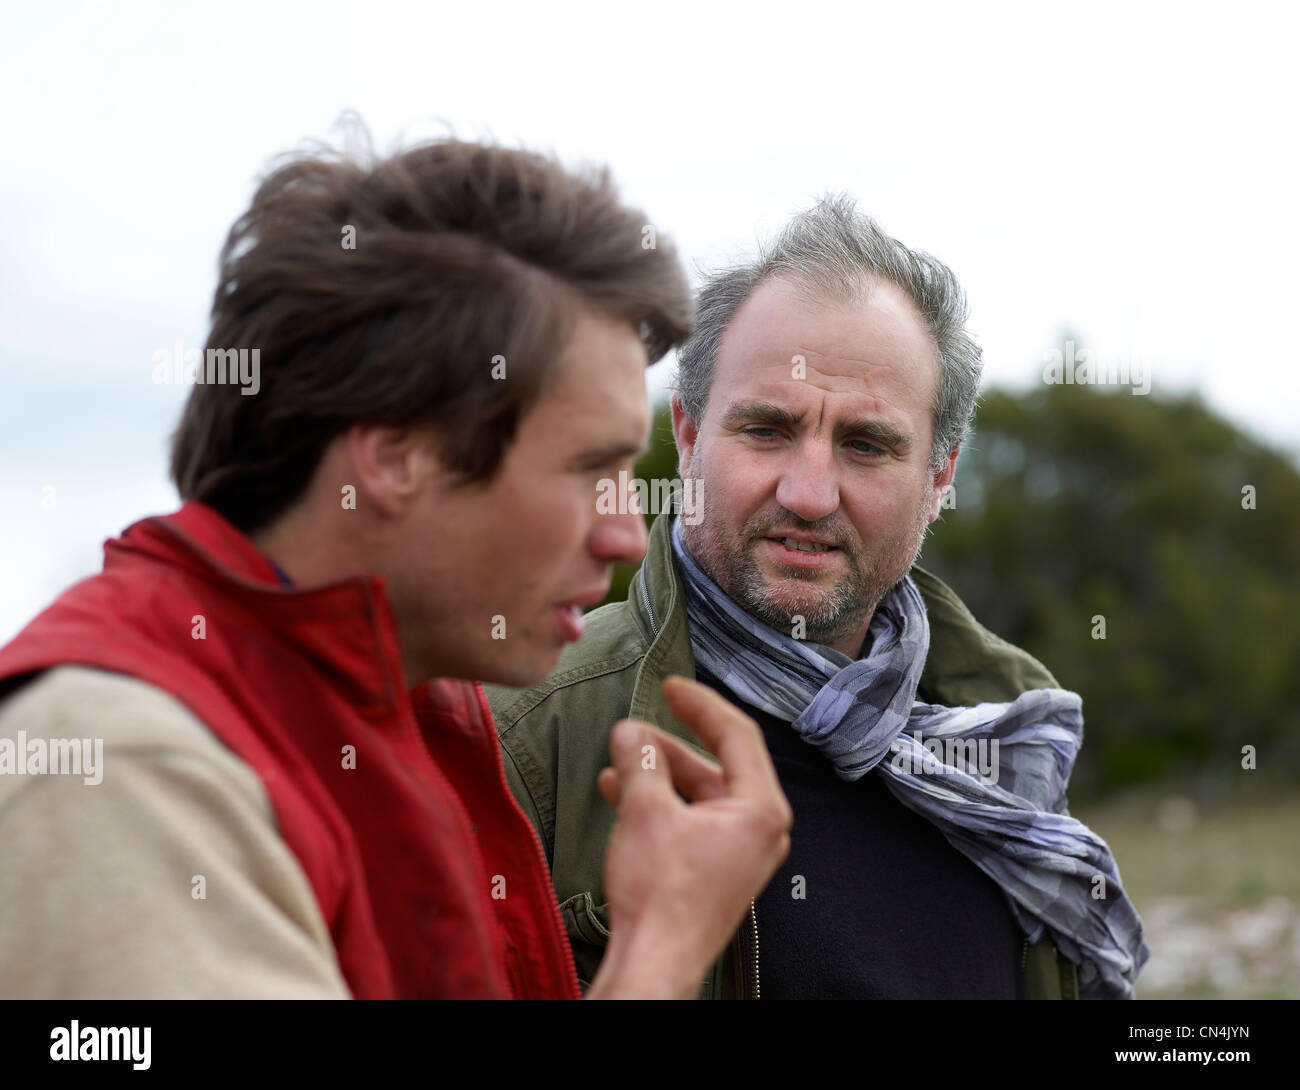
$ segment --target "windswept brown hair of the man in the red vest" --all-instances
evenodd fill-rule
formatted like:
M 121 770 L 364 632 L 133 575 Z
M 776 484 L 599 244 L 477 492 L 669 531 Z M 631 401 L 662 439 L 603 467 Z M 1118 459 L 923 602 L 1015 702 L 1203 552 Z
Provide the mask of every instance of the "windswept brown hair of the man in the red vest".
M 577 303 L 627 319 L 651 363 L 694 316 L 673 248 L 607 170 L 454 139 L 294 157 L 230 229 L 204 352 L 257 349 L 260 388 L 195 385 L 172 476 L 252 532 L 365 421 L 432 425 L 448 468 L 489 480 Z

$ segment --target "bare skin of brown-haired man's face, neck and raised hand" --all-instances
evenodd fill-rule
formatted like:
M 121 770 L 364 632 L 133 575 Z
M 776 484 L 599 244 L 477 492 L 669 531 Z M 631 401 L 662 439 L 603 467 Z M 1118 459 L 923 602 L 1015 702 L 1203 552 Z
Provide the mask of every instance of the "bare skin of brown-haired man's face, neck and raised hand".
M 645 369 L 629 323 L 581 307 L 551 386 L 488 483 L 456 481 L 426 429 L 356 424 L 255 542 L 299 585 L 381 576 L 408 687 L 533 684 L 576 639 L 581 609 L 604 597 L 612 566 L 645 555 L 642 516 L 598 514 L 595 502 L 598 481 L 630 476 L 645 449 Z M 344 485 L 355 510 L 341 503 Z M 506 639 L 493 637 L 498 619 Z M 718 762 L 647 723 L 616 724 L 598 780 L 618 819 L 593 999 L 693 996 L 789 852 L 789 804 L 754 721 L 682 678 L 664 696 Z

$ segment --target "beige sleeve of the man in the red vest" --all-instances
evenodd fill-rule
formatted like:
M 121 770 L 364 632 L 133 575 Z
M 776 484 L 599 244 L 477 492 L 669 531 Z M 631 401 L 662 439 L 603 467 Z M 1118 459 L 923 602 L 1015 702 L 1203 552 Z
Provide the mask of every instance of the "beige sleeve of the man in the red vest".
M 0 702 L 20 731 L 103 739 L 103 779 L 0 774 L 0 998 L 350 998 L 261 780 L 182 704 L 60 666 Z

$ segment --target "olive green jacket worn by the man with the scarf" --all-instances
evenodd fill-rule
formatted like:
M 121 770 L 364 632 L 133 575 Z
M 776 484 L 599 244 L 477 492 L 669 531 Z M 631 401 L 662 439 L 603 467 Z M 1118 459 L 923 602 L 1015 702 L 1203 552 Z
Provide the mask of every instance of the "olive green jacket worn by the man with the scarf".
M 670 674 L 696 676 L 668 529 L 668 518 L 655 520 L 628 600 L 588 614 L 582 639 L 566 649 L 545 682 L 526 691 L 488 687 L 506 774 L 546 848 L 584 989 L 595 976 L 610 935 L 602 874 L 615 812 L 597 791 L 595 777 L 608 764 L 611 728 L 625 717 L 644 719 L 703 752 L 659 691 Z M 911 576 L 930 615 L 930 656 L 919 700 L 1001 702 L 1024 689 L 1057 687 L 1039 662 L 980 626 L 944 583 L 918 567 Z M 1026 942 L 1020 968 L 1030 998 L 1078 998 L 1075 966 L 1050 942 L 1032 947 Z M 760 972 L 757 922 L 750 913 L 702 982 L 699 998 L 757 998 Z

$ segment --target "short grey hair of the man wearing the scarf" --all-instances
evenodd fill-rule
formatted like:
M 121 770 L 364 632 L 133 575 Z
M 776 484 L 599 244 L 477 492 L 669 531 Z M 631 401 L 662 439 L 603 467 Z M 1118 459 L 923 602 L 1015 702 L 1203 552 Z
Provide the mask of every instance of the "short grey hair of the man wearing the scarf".
M 706 277 L 694 332 L 677 354 L 675 386 L 686 415 L 696 423 L 703 418 L 727 326 L 754 289 L 776 276 L 792 278 L 812 297 L 846 302 L 859 298 L 871 280 L 888 280 L 907 293 L 939 351 L 930 462 L 941 468 L 970 432 L 983 369 L 979 345 L 965 328 L 966 293 L 948 265 L 890 238 L 844 194 L 801 212 L 753 261 Z

